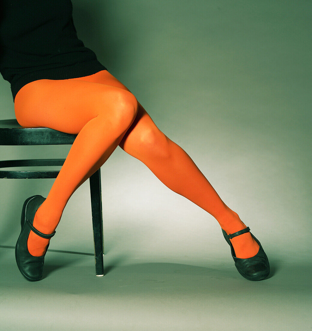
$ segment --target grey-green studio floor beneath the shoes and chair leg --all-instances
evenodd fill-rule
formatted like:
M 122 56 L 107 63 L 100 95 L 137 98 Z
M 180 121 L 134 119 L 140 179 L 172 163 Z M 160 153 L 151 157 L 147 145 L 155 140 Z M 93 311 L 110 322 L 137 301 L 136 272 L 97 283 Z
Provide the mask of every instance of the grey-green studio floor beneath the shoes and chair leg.
M 226 244 L 226 243 L 225 243 Z M 44 279 L 19 273 L 13 247 L 0 247 L 1 330 L 309 330 L 311 265 L 267 247 L 271 273 L 244 279 L 219 259 L 129 259 L 50 250 Z M 212 252 L 210 252 L 211 254 Z

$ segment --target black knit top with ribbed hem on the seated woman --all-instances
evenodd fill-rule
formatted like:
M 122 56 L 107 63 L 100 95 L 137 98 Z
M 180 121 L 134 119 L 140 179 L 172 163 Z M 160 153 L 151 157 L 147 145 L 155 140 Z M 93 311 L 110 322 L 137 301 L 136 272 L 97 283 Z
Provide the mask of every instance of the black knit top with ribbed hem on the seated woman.
M 0 0 L 0 73 L 17 92 L 38 79 L 107 70 L 78 39 L 71 0 Z

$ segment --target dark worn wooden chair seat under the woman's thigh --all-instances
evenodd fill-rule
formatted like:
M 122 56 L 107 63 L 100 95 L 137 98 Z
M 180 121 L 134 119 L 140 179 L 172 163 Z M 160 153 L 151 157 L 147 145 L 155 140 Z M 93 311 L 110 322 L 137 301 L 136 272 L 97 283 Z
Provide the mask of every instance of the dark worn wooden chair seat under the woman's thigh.
M 49 127 L 23 127 L 16 118 L 0 120 L 0 145 L 72 145 L 76 137 Z

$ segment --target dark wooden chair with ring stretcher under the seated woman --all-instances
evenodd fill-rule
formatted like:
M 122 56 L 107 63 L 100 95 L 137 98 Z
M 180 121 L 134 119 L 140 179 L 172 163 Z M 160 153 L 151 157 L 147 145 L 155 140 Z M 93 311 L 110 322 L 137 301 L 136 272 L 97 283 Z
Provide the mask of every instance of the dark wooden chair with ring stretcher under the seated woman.
M 72 145 L 76 134 L 68 134 L 47 127 L 25 128 L 16 118 L 0 120 L 0 145 Z M 62 166 L 65 159 L 29 159 L 0 161 L 0 169 L 19 166 Z M 56 178 L 59 170 L 0 170 L 0 178 Z M 101 173 L 98 169 L 89 177 L 95 273 L 104 276 L 104 242 L 101 196 Z

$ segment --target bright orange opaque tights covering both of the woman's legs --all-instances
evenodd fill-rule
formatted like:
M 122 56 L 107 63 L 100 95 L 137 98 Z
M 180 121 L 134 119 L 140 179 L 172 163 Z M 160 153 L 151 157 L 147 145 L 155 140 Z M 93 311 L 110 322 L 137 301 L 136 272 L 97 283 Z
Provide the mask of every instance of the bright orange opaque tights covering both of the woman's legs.
M 135 96 L 107 70 L 79 78 L 30 82 L 18 91 L 14 106 L 23 127 L 77 134 L 35 214 L 33 225 L 39 231 L 49 234 L 55 230 L 71 195 L 117 146 L 143 162 L 172 191 L 214 216 L 226 233 L 246 228 L 190 156 L 157 128 Z M 29 253 L 42 256 L 49 240 L 30 231 Z M 258 253 L 259 245 L 249 232 L 230 240 L 239 258 Z

